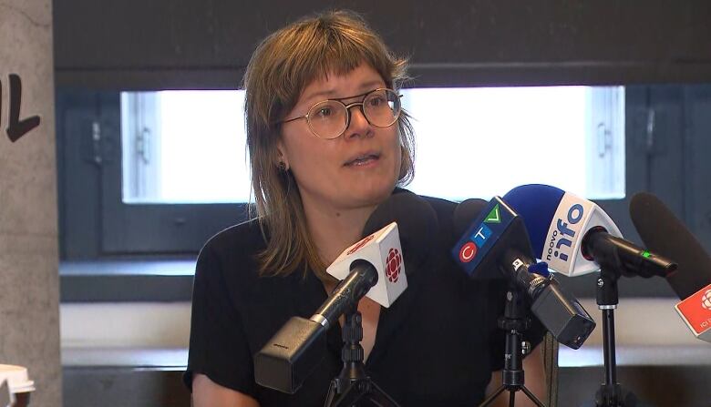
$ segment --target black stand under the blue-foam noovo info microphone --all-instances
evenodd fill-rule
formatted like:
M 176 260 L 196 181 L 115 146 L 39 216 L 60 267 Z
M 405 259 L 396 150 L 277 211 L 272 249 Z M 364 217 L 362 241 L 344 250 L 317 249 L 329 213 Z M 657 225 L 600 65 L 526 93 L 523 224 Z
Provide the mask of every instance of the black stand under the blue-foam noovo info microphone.
M 601 264 L 597 280 L 596 300 L 603 311 L 603 357 L 605 381 L 595 392 L 596 407 L 636 407 L 637 398 L 617 382 L 617 361 L 614 344 L 614 310 L 617 308 L 617 280 L 620 276 L 613 267 Z

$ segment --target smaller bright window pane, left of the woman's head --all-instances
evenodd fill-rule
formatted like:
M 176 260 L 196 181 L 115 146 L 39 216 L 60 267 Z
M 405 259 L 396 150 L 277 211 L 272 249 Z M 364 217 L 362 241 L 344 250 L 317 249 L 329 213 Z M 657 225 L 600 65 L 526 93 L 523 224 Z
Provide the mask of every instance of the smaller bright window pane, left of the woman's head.
M 123 92 L 121 104 L 124 202 L 249 199 L 243 91 Z

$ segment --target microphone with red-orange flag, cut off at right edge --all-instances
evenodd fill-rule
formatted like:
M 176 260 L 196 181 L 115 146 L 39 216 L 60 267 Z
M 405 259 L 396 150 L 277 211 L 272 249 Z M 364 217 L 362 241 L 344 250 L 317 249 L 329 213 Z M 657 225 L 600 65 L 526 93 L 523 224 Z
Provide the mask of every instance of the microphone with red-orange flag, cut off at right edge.
M 711 257 L 694 235 L 654 195 L 640 192 L 630 216 L 649 249 L 675 259 L 679 267 L 666 281 L 681 299 L 676 312 L 696 338 L 711 342 Z

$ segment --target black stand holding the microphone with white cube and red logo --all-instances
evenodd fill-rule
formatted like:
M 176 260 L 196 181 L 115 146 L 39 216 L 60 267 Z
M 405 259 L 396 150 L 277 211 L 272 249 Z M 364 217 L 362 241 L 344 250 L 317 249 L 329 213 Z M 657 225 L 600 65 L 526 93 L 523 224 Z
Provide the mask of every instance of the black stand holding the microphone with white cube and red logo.
M 345 311 L 343 326 L 344 345 L 341 349 L 343 370 L 336 376 L 328 388 L 325 407 L 352 407 L 373 405 L 377 407 L 399 407 L 397 402 L 380 389 L 366 373 L 363 364 L 362 316 L 356 305 Z M 364 402 L 363 404 L 359 404 Z

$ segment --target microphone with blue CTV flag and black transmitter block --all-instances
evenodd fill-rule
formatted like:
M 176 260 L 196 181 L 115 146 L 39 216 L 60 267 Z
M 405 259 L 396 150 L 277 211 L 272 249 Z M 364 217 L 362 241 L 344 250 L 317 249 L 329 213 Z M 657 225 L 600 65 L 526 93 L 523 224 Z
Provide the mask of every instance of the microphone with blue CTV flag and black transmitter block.
M 465 232 L 451 251 L 454 261 L 472 279 L 508 277 L 527 293 L 531 311 L 557 341 L 580 348 L 595 328 L 593 318 L 548 275 L 545 263 L 532 259 L 523 220 L 506 202 L 494 197 L 481 209 L 479 199 L 465 200 L 455 209 L 455 230 Z

